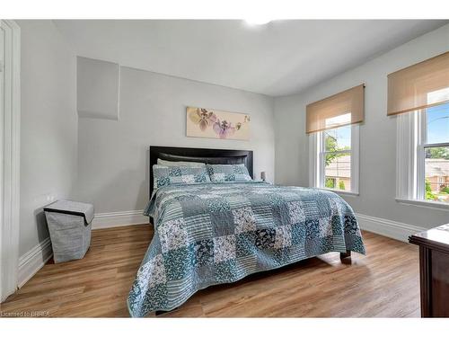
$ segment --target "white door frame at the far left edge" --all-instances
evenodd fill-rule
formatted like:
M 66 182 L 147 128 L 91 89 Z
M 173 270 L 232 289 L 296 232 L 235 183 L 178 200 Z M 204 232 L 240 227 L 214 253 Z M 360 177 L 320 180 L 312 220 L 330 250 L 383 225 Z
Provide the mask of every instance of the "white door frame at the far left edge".
M 20 231 L 21 29 L 0 20 L 4 62 L 0 75 L 0 302 L 17 289 Z

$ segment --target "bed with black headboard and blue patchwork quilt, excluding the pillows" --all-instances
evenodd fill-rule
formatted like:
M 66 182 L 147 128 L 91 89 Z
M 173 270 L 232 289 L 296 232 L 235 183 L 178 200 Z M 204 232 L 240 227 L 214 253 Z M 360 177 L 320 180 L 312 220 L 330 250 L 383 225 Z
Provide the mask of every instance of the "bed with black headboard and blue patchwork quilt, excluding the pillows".
M 331 191 L 267 182 L 173 184 L 153 191 L 158 158 L 244 164 L 252 151 L 150 146 L 145 215 L 154 237 L 128 295 L 131 316 L 170 311 L 199 289 L 322 253 L 365 254 L 352 208 Z

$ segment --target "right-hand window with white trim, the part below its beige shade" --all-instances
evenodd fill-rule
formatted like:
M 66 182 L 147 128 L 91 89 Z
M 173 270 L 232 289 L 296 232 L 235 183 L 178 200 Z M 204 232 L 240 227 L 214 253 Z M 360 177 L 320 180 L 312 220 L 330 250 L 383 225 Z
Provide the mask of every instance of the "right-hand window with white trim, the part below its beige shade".
M 449 206 L 449 102 L 398 116 L 398 154 L 397 199 Z

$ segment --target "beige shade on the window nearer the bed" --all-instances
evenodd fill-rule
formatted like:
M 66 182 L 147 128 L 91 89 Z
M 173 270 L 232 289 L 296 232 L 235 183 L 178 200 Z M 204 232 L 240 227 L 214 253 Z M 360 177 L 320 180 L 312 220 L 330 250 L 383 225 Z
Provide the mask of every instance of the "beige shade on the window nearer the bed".
M 305 108 L 305 132 L 339 128 L 364 120 L 365 84 L 334 94 Z

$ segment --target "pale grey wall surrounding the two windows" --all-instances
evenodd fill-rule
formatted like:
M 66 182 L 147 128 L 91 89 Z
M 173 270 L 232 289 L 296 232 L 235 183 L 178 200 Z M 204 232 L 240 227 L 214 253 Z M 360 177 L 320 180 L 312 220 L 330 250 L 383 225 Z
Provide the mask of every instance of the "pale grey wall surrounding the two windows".
M 360 195 L 344 198 L 357 213 L 371 217 L 422 227 L 449 222 L 449 212 L 445 210 L 403 205 L 394 199 L 396 120 L 386 115 L 387 75 L 448 49 L 449 25 L 445 25 L 303 93 L 276 98 L 276 182 L 308 186 L 306 104 L 365 83 L 365 123 L 360 128 Z

